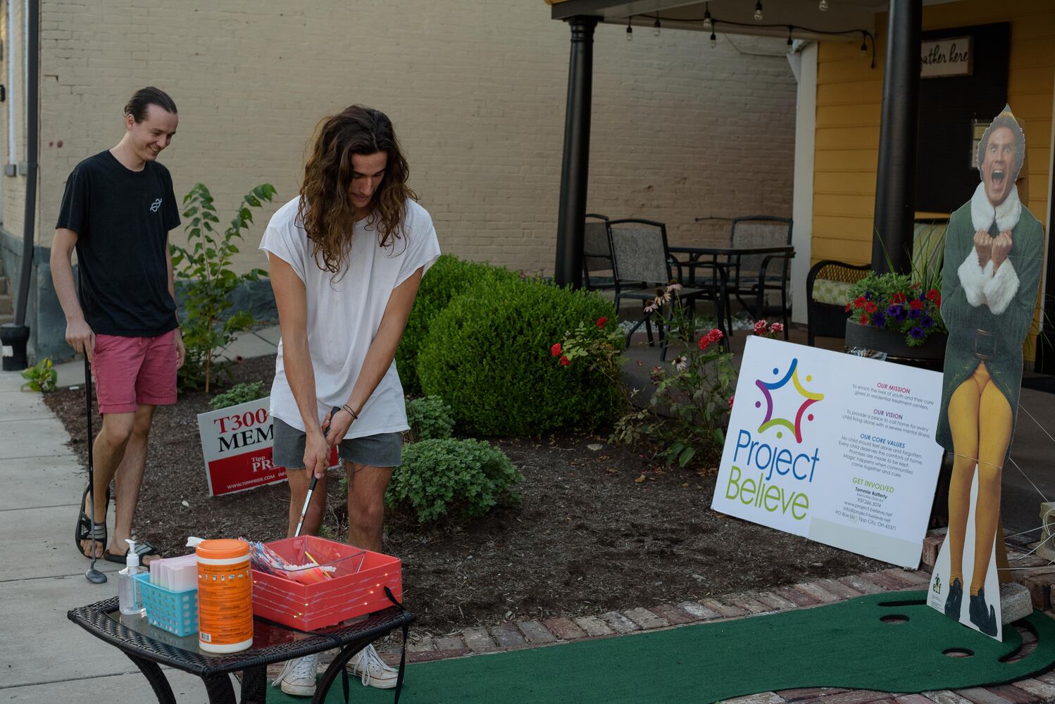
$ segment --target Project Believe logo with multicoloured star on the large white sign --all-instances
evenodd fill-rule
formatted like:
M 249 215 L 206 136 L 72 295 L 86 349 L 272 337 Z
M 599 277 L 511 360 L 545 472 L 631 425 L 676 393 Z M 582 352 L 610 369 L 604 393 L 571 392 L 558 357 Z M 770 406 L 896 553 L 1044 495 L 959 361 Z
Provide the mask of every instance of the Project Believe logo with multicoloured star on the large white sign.
M 819 448 L 809 452 L 802 447 L 803 421 L 813 419 L 813 414 L 807 410 L 823 400 L 824 394 L 803 386 L 797 357 L 791 358 L 783 376 L 780 367 L 773 368 L 772 376 L 773 382 L 761 378 L 754 382 L 766 402 L 765 416 L 755 433 L 765 439 L 755 439 L 746 428 L 737 431 L 725 497 L 767 513 L 802 521 L 809 512 L 809 495 L 804 489 L 813 482 L 820 459 Z M 811 375 L 805 377 L 807 384 L 812 379 Z M 756 400 L 754 407 L 761 409 L 762 399 Z M 772 429 L 774 433 L 769 432 Z M 779 442 L 784 439 L 785 430 L 794 437 L 793 446 L 786 447 Z M 759 472 L 757 478 L 745 476 L 754 471 Z

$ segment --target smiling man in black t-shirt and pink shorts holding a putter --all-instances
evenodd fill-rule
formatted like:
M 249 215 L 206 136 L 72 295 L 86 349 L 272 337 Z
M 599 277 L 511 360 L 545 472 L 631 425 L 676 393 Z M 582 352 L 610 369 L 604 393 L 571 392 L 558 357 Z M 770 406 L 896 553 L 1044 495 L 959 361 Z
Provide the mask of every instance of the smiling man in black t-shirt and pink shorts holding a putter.
M 81 161 L 66 180 L 52 243 L 52 279 L 66 341 L 92 361 L 102 430 L 94 448 L 94 517 L 84 489 L 77 542 L 91 556 L 124 563 L 154 408 L 176 403 L 184 343 L 176 320 L 169 231 L 179 211 L 169 170 L 155 159 L 176 134 L 176 105 L 146 87 L 124 106 L 117 146 Z M 71 254 L 77 251 L 79 289 Z M 117 478 L 114 534 L 107 540 L 110 482 Z M 140 562 L 156 558 L 138 543 Z

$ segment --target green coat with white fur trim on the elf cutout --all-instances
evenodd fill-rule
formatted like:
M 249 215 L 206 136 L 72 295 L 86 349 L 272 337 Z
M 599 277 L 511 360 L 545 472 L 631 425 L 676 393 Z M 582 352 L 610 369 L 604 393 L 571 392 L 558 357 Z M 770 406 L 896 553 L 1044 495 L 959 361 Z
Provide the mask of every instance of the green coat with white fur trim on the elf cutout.
M 996 273 L 992 261 L 984 269 L 978 266 L 974 237 L 980 229 L 993 237 L 1011 230 L 1011 252 Z M 980 361 L 985 363 L 993 382 L 1011 405 L 1012 418 L 1018 416 L 1022 343 L 1033 324 L 1043 249 L 1043 229 L 1022 208 L 1017 190 L 994 209 L 979 183 L 972 199 L 950 218 L 941 286 L 941 316 L 948 328 L 948 344 L 936 438 L 950 452 L 953 436 L 948 399 Z

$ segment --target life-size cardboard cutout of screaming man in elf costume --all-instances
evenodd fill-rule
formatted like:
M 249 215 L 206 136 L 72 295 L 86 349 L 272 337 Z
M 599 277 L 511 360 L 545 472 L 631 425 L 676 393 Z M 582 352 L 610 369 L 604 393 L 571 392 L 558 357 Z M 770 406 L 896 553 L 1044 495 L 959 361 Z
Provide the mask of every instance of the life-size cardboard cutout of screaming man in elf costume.
M 928 602 L 999 640 L 997 562 L 1008 567 L 1000 478 L 1015 431 L 1022 343 L 1033 322 L 1044 245 L 1015 185 L 1025 137 L 1011 107 L 990 124 L 977 156 L 981 183 L 953 213 L 945 235 L 941 315 L 948 345 L 937 441 L 953 453 L 953 475 L 948 535 Z

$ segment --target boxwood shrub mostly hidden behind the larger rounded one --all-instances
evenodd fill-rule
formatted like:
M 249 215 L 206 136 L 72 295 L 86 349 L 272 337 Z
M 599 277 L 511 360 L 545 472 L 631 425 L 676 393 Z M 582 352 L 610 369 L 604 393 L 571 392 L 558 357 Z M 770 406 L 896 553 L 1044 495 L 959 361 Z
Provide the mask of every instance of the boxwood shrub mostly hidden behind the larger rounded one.
M 443 254 L 425 273 L 396 350 L 396 368 L 405 393 L 421 393 L 416 369 L 418 351 L 429 326 L 450 299 L 478 281 L 519 279 L 516 272 Z

